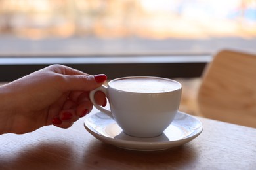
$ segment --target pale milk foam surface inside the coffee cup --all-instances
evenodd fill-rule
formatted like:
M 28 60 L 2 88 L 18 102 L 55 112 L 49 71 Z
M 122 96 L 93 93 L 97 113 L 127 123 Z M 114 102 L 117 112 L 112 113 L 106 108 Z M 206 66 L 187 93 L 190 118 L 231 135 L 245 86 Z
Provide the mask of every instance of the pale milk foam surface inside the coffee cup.
M 110 86 L 117 90 L 135 93 L 161 93 L 181 88 L 181 84 L 161 78 L 124 78 L 110 82 Z

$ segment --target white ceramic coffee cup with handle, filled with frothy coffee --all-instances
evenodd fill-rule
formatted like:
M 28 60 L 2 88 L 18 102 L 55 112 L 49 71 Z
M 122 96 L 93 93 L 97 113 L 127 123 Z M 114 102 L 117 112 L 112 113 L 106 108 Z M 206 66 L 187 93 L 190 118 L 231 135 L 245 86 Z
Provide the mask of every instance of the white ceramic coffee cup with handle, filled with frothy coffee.
M 156 137 L 171 124 L 181 101 L 182 86 L 175 80 L 152 76 L 117 78 L 90 92 L 93 105 L 116 120 L 127 135 Z M 110 110 L 95 102 L 105 93 Z

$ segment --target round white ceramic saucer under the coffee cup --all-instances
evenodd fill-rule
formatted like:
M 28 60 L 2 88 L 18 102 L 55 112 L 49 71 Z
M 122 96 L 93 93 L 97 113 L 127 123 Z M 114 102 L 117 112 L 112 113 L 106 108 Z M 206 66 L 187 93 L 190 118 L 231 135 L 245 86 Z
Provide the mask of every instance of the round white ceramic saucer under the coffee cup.
M 123 133 L 116 121 L 102 112 L 87 114 L 85 129 L 100 141 L 129 150 L 165 150 L 188 143 L 203 130 L 203 125 L 194 116 L 177 112 L 175 119 L 162 135 L 152 138 L 131 137 Z

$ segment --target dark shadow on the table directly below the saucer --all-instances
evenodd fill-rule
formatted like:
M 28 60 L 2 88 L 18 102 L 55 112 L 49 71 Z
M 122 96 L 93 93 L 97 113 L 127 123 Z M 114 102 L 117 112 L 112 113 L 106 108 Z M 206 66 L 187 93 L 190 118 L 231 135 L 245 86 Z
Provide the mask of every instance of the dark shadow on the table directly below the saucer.
M 196 150 L 190 144 L 154 152 L 125 150 L 100 142 L 93 143 L 88 148 L 83 161 L 85 164 L 95 165 L 96 169 L 182 168 L 198 159 Z M 104 160 L 104 163 L 98 160 Z

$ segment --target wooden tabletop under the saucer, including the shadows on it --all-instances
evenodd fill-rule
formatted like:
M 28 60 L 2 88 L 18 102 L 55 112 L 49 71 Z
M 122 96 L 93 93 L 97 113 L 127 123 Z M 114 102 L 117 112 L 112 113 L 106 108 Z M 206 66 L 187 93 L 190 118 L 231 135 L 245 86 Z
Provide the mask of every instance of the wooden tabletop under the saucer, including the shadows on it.
M 104 144 L 85 130 L 84 118 L 69 129 L 1 135 L 0 169 L 256 169 L 256 129 L 199 119 L 200 136 L 158 152 Z

